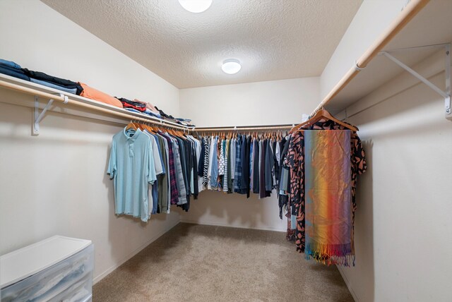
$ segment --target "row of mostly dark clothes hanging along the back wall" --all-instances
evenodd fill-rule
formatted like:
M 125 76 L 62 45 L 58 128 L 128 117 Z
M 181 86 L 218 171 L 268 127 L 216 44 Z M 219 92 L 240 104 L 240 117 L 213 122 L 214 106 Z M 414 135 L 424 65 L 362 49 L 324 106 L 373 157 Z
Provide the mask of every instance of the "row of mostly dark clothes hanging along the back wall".
M 202 190 L 246 194 L 247 198 L 251 192 L 260 194 L 259 198 L 269 197 L 273 191 L 278 194 L 281 159 L 276 159 L 274 150 L 280 140 L 242 134 L 199 139 L 203 145 L 202 160 L 200 157 L 197 164 Z

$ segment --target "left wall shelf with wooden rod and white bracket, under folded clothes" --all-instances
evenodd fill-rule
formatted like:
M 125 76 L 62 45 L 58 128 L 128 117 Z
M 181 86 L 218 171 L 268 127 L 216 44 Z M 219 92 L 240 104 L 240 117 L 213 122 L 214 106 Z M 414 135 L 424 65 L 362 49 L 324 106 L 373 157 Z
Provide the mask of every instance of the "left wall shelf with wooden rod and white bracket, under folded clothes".
M 62 106 L 66 106 L 66 104 L 73 105 L 75 107 L 83 108 L 90 113 L 102 114 L 102 116 L 113 116 L 115 118 L 121 119 L 121 121 L 124 121 L 124 123 L 126 123 L 126 121 L 133 120 L 143 123 L 151 123 L 159 126 L 166 126 L 169 128 L 177 128 L 179 130 L 190 130 L 194 128 L 191 126 L 179 125 L 178 123 L 174 123 L 172 121 L 157 119 L 156 117 L 149 116 L 148 114 L 139 114 L 136 112 L 127 111 L 126 109 L 115 107 L 102 102 L 97 102 L 94 99 L 88 99 L 79 95 L 73 95 L 68 92 L 63 92 L 61 90 L 46 87 L 40 84 L 31 83 L 26 80 L 20 80 L 18 78 L 13 78 L 9 75 L 4 75 L 1 73 L 0 87 L 35 96 L 35 102 L 26 103 L 25 105 L 34 107 L 35 109 L 32 131 L 34 135 L 39 134 L 39 122 L 41 121 L 45 112 L 55 104 L 55 101 L 63 104 Z M 40 103 L 46 104 L 42 111 L 40 111 L 40 107 L 42 107 Z M 81 113 L 78 113 L 77 115 L 84 116 Z

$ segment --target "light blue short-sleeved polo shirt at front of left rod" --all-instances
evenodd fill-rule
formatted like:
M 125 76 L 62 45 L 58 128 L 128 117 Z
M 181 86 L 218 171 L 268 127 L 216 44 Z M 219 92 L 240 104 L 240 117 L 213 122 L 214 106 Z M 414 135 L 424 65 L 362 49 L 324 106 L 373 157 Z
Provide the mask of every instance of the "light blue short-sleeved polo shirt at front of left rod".
M 114 208 L 117 215 L 140 217 L 147 222 L 148 183 L 155 176 L 153 148 L 148 135 L 140 129 L 124 128 L 113 136 L 107 174 L 114 183 Z

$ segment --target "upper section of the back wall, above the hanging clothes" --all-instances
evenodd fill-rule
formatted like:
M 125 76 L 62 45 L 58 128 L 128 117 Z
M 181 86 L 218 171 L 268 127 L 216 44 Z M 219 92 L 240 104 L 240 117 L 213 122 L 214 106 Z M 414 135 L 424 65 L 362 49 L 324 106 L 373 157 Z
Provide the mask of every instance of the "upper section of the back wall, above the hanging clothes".
M 319 78 L 180 90 L 181 114 L 197 126 L 299 123 L 319 103 Z

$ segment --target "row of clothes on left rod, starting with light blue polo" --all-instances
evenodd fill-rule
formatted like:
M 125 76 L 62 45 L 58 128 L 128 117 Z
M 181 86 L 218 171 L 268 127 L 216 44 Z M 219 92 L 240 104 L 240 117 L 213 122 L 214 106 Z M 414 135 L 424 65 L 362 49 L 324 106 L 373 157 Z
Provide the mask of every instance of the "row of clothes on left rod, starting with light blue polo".
M 113 137 L 107 170 L 115 212 L 147 222 L 153 214 L 169 213 L 171 205 L 188 211 L 191 196 L 200 191 L 200 159 L 201 142 L 191 135 L 124 128 Z

